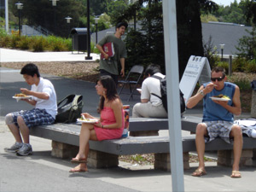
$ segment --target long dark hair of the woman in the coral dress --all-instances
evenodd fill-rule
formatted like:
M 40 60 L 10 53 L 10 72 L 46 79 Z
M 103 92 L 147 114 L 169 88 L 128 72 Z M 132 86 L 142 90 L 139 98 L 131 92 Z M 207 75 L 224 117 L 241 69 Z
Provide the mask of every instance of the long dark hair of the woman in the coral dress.
M 108 101 L 113 101 L 116 98 L 119 98 L 116 90 L 116 84 L 114 83 L 113 79 L 109 75 L 103 75 L 101 76 L 96 82 L 100 81 L 103 88 L 107 89 L 106 97 L 108 98 Z M 101 96 L 100 99 L 100 110 L 104 108 L 104 96 Z

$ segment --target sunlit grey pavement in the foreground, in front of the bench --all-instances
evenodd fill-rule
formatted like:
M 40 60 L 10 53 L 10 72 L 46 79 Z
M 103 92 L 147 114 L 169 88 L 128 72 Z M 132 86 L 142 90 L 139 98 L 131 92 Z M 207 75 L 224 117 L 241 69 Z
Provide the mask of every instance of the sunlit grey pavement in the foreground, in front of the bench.
M 172 191 L 172 175 L 153 169 L 119 162 L 118 168 L 94 169 L 90 172 L 69 173 L 74 166 L 69 160 L 50 156 L 51 143 L 31 137 L 33 155 L 8 154 L 3 148 L 14 143 L 11 133 L 0 122 L 0 191 Z M 242 177 L 230 177 L 231 167 L 206 163 L 207 175 L 192 177 L 197 163 L 184 172 L 185 191 L 255 191 L 254 167 L 241 168 Z

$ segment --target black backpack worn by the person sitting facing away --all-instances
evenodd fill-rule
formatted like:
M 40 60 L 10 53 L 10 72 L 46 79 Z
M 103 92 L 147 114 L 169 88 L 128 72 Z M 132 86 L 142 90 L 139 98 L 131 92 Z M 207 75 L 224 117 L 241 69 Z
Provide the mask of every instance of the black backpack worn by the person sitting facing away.
M 166 112 L 168 113 L 168 107 L 167 107 L 167 86 L 166 86 L 166 78 L 162 79 L 159 76 L 153 75 L 152 78 L 159 79 L 160 80 L 160 92 L 161 96 L 157 96 L 154 93 L 151 93 L 153 96 L 157 96 L 160 98 L 163 102 L 163 106 L 166 109 Z M 179 90 L 179 97 L 180 97 L 180 110 L 181 114 L 183 114 L 186 110 L 185 100 L 183 97 L 183 92 Z

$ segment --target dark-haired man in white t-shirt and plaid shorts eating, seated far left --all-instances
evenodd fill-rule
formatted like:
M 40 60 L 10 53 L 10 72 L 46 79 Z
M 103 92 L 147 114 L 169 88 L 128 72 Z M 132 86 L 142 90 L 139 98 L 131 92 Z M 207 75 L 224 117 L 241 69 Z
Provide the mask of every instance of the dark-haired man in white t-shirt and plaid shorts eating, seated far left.
M 22 67 L 20 74 L 31 85 L 31 90 L 20 88 L 20 95 L 28 97 L 21 98 L 31 104 L 34 108 L 8 113 L 5 116 L 6 125 L 15 137 L 15 144 L 10 148 L 4 148 L 6 152 L 16 153 L 21 156 L 32 154 L 32 146 L 29 142 L 29 130 L 37 125 L 49 125 L 55 122 L 57 114 L 57 101 L 54 85 L 40 76 L 38 67 L 28 63 Z M 22 137 L 21 137 L 22 136 Z

